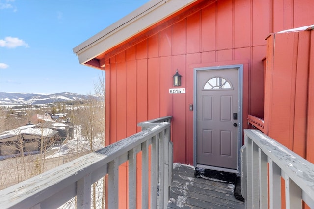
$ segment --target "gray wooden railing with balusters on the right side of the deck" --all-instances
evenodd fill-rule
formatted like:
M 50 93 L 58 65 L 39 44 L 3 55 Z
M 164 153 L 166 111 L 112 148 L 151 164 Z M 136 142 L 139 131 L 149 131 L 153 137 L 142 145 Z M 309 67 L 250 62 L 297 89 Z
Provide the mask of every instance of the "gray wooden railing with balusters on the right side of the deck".
M 282 177 L 286 209 L 302 209 L 302 200 L 314 209 L 314 164 L 261 131 L 247 129 L 244 136 L 241 188 L 246 208 L 280 209 Z

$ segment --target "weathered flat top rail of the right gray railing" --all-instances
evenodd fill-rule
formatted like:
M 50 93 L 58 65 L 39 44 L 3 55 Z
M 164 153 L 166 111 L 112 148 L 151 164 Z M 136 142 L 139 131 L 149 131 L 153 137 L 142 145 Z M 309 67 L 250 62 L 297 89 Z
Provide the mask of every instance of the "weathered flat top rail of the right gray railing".
M 310 197 L 314 194 L 314 164 L 258 130 L 244 133 Z

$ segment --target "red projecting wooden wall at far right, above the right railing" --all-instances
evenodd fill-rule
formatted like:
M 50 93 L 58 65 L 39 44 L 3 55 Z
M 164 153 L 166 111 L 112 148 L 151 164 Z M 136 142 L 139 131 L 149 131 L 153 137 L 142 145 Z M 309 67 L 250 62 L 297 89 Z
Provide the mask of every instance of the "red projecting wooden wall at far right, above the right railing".
M 267 39 L 265 132 L 314 163 L 314 31 Z

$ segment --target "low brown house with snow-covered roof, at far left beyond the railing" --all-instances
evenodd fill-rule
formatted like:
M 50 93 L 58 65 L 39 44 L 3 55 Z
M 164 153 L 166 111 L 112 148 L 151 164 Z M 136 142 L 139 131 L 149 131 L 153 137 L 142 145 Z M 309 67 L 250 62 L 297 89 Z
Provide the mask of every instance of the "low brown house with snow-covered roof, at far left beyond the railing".
M 0 134 L 0 155 L 14 155 L 23 152 L 40 151 L 40 142 L 51 146 L 59 139 L 58 131 L 49 128 L 36 128 L 36 125 L 22 126 Z

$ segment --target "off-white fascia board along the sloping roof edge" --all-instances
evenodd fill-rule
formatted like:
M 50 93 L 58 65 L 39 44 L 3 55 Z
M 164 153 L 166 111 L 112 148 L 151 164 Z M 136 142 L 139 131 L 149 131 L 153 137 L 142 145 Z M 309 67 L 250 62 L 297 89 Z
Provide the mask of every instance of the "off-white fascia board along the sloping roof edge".
M 73 49 L 83 64 L 196 0 L 151 0 Z

